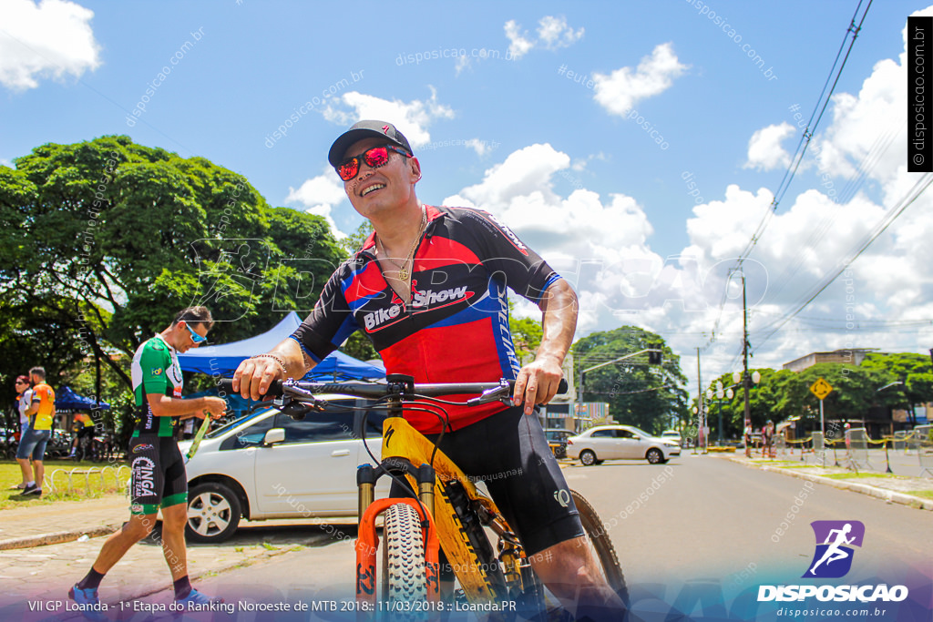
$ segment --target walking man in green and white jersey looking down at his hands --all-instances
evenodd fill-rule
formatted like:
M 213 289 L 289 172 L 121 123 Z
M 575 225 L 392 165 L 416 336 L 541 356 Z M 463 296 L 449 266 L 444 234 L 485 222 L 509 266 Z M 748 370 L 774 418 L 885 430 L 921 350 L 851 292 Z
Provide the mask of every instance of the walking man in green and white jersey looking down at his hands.
M 123 529 L 107 538 L 91 572 L 68 592 L 68 597 L 79 604 L 100 604 L 97 587 L 104 574 L 131 546 L 152 531 L 160 508 L 162 551 L 172 571 L 175 601 L 185 607 L 189 603 L 211 602 L 188 581 L 185 554 L 188 477 L 174 440 L 173 420 L 203 419 L 208 415 L 216 419 L 227 408 L 227 403 L 219 397 L 181 398 L 182 375 L 176 352 L 198 347 L 212 325 L 210 311 L 204 307 L 189 307 L 179 311 L 168 328 L 141 345 L 132 357 L 132 388 L 138 422 L 127 454 L 132 470 L 131 517 Z M 106 619 L 94 607 L 84 607 L 82 612 L 91 620 Z

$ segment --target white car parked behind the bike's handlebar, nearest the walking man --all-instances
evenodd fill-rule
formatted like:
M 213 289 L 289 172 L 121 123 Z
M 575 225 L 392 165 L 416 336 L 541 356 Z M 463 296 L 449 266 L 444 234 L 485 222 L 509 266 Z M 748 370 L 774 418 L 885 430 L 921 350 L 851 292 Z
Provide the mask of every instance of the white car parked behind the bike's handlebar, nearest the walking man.
M 372 463 L 363 446 L 363 411 L 354 397 L 321 395 L 335 410 L 295 421 L 264 408 L 204 436 L 188 472 L 188 527 L 192 542 L 221 542 L 241 518 L 355 517 L 356 466 Z M 378 459 L 384 413 L 369 411 L 366 444 Z M 191 441 L 179 443 L 182 454 Z M 388 496 L 382 477 L 377 497 Z

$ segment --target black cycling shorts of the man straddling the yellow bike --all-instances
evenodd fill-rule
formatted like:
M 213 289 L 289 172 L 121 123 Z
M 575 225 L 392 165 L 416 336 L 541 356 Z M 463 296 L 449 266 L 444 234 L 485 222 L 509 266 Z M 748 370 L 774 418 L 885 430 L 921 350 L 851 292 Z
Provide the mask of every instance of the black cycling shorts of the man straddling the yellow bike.
M 439 435 L 427 435 L 437 441 Z M 497 412 L 440 441 L 471 480 L 483 480 L 530 556 L 583 535 L 577 507 L 537 416 L 522 407 Z M 393 482 L 390 496 L 411 496 Z

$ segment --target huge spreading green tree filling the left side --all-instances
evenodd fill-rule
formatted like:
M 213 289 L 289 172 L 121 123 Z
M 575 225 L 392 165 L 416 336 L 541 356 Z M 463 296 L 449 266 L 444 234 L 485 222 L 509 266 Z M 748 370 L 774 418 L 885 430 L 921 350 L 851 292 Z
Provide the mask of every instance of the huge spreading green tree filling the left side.
M 126 390 L 132 352 L 174 311 L 205 304 L 212 341 L 244 339 L 310 310 L 345 255 L 323 218 L 273 209 L 242 175 L 127 136 L 15 162 L 0 166 L 0 352 L 20 353 L 5 375 L 44 363 L 53 382 L 72 381 L 90 358 Z

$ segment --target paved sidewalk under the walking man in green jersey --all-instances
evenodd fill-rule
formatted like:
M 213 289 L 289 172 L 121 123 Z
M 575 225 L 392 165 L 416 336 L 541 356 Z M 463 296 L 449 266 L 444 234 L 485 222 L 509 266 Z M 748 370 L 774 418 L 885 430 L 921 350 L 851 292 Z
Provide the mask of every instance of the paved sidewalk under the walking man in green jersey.
M 9 615 L 24 621 L 80 618 L 63 610 L 68 588 L 87 574 L 104 544 L 104 537 L 94 536 L 118 530 L 130 517 L 127 498 L 108 495 L 53 505 L 23 503 L 21 507 L 0 510 L 0 586 L 3 587 L 0 619 L 14 619 Z M 256 529 L 283 524 L 308 527 L 299 537 L 291 532 L 287 542 L 273 530 L 267 534 Z M 305 546 L 321 546 L 331 540 L 314 521 L 244 520 L 241 525 L 253 529 L 219 545 L 188 544 L 188 573 L 196 586 L 207 577 L 261 563 Z M 91 537 L 84 538 L 84 535 Z M 120 602 L 170 601 L 167 595 L 171 593 L 171 586 L 160 541 L 150 537 L 132 546 L 107 574 L 101 587 L 101 600 L 111 606 L 112 614 Z M 59 609 L 44 608 L 35 612 L 29 609 L 30 603 L 38 607 L 35 603 L 40 602 L 57 603 L 55 606 Z

